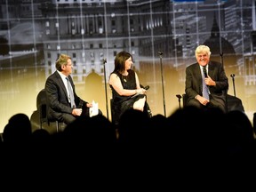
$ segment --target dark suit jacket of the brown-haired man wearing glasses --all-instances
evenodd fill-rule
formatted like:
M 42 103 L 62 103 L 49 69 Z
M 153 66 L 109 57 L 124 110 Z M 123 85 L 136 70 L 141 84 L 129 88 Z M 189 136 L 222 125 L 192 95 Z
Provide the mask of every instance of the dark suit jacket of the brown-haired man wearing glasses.
M 71 76 L 68 76 L 68 78 L 74 92 L 76 108 L 84 108 L 87 102 L 80 99 L 76 95 L 75 84 Z M 45 83 L 45 91 L 47 103 L 49 106 L 48 118 L 61 120 L 61 116 L 63 113 L 72 113 L 72 108 L 70 106 L 70 103 L 68 102 L 68 92 L 57 71 L 55 71 L 51 76 L 47 78 Z

